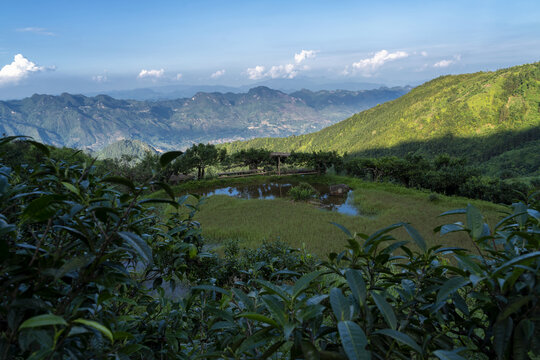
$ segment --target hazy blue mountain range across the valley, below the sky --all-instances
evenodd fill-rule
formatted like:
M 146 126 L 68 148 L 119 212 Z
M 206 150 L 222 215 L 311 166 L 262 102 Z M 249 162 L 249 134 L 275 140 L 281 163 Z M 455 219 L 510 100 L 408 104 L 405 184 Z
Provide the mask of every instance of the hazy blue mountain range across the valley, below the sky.
M 197 142 L 317 131 L 408 91 L 303 90 L 288 95 L 261 86 L 247 93 L 199 92 L 191 98 L 161 101 L 36 94 L 0 101 L 0 133 L 91 150 L 123 139 L 141 140 L 158 150 L 182 149 Z

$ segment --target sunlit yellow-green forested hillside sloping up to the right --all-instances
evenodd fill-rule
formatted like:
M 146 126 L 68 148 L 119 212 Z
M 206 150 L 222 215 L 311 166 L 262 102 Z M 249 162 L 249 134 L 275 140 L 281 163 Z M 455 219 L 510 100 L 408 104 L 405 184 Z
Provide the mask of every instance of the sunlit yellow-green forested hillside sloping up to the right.
M 316 133 L 225 146 L 366 156 L 446 152 L 499 164 L 520 158 L 538 169 L 540 63 L 439 77 Z

